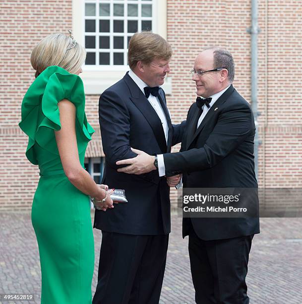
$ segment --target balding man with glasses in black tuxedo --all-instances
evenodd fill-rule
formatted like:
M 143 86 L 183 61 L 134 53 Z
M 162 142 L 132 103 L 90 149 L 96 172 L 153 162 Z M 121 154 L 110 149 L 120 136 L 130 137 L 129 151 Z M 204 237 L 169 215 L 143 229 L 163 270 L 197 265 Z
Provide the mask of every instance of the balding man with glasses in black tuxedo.
M 255 125 L 249 104 L 233 87 L 232 55 L 209 48 L 195 59 L 192 70 L 196 102 L 188 111 L 181 152 L 157 155 L 167 176 L 182 173 L 187 188 L 257 188 L 254 173 Z M 137 151 L 119 171 L 134 174 L 155 170 L 155 156 Z M 155 171 L 154 171 L 155 172 Z M 179 176 L 171 177 L 174 186 Z M 250 200 L 258 209 L 258 198 Z M 189 235 L 195 300 L 200 304 L 247 304 L 245 277 L 253 235 L 259 218 L 184 218 L 183 237 Z

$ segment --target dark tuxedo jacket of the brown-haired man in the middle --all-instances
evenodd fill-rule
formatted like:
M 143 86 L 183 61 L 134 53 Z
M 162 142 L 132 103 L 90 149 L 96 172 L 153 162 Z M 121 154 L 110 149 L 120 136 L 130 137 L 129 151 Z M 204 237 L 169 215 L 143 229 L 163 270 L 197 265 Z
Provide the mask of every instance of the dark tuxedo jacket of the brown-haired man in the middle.
M 136 235 L 168 234 L 171 230 L 166 178 L 159 177 L 157 170 L 141 175 L 118 172 L 120 166 L 116 165 L 118 160 L 136 156 L 130 148 L 154 155 L 170 152 L 171 146 L 181 142 L 185 122 L 172 125 L 161 88 L 158 98 L 169 127 L 168 143 L 160 118 L 128 73 L 100 97 L 99 121 L 105 153 L 102 183 L 124 189 L 128 203 L 115 204 L 106 212 L 96 210 L 96 228 Z

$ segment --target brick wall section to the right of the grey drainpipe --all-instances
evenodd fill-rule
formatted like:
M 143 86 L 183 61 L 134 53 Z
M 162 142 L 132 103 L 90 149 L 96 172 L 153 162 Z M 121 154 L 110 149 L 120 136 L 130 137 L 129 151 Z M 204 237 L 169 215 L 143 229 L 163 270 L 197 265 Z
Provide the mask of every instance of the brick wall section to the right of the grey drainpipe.
M 262 180 L 266 187 L 301 187 L 301 2 L 264 3 L 259 41 Z

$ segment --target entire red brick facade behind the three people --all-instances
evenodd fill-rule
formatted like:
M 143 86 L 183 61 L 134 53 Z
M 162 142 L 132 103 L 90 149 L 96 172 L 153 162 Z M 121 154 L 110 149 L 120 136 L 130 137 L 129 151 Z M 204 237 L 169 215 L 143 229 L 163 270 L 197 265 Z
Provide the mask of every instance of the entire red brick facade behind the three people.
M 220 45 L 234 56 L 234 86 L 250 100 L 250 1 L 167 0 L 172 121 L 185 119 L 194 102 L 189 71 L 197 53 Z M 0 210 L 31 207 L 39 173 L 25 158 L 27 138 L 18 128 L 22 97 L 34 80 L 30 53 L 42 37 L 72 27 L 71 0 L 2 0 L 0 3 Z M 258 109 L 259 185 L 302 185 L 302 6 L 299 1 L 259 1 Z M 88 121 L 97 130 L 88 155 L 101 156 L 98 98 L 86 99 Z

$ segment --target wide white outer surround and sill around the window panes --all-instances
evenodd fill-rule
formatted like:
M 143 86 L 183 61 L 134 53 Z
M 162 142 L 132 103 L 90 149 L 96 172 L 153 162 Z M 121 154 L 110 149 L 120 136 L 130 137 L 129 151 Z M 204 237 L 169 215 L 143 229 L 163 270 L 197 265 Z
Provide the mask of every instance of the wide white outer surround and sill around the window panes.
M 167 39 L 167 0 L 153 0 L 152 16 L 156 16 L 152 22 L 152 31 Z M 94 2 L 93 0 L 91 2 Z M 84 35 L 84 11 L 85 0 L 72 0 L 72 32 L 75 39 L 85 45 Z M 101 94 L 106 88 L 121 79 L 128 66 L 83 66 L 80 74 L 86 94 Z M 171 78 L 167 77 L 162 85 L 166 94 L 171 94 Z

